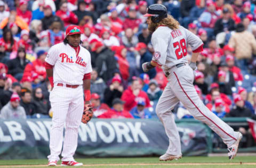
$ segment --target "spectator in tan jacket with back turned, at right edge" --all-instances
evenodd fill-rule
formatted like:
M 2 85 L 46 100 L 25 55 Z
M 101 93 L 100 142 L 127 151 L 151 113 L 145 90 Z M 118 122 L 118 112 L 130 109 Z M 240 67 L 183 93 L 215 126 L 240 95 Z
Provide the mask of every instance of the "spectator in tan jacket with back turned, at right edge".
M 256 54 L 256 40 L 252 33 L 245 31 L 243 24 L 239 23 L 228 45 L 235 49 L 235 57 L 239 64 L 238 67 L 246 70 L 247 62 L 252 58 L 252 54 Z

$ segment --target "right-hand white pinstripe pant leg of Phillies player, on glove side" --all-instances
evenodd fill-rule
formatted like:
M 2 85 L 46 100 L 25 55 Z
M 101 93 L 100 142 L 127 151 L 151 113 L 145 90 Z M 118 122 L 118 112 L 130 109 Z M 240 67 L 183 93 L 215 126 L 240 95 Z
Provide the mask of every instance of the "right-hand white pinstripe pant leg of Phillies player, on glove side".
M 65 138 L 61 154 L 62 162 L 74 161 L 73 155 L 77 148 L 78 128 L 81 124 L 84 109 L 84 98 L 82 93 L 82 86 L 74 89 L 75 96 L 70 104 L 66 119 Z

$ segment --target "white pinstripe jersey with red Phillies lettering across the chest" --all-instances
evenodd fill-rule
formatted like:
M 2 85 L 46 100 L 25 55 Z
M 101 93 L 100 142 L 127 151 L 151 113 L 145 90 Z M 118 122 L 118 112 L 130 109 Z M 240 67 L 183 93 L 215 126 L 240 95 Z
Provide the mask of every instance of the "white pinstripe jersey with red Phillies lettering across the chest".
M 45 62 L 54 65 L 54 84 L 82 85 L 84 74 L 92 72 L 91 54 L 82 46 L 76 54 L 69 44 L 56 44 L 50 48 Z

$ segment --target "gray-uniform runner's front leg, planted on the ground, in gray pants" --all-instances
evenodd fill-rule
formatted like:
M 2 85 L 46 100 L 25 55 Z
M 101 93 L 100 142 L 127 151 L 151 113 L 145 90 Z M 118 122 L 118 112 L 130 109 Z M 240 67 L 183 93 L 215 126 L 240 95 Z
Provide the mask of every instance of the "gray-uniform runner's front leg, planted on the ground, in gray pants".
M 174 121 L 174 115 L 171 112 L 178 102 L 179 100 L 170 88 L 170 82 L 168 82 L 158 100 L 156 114 L 162 121 L 166 135 L 169 138 L 169 147 L 166 154 L 170 155 L 181 155 L 180 136 Z

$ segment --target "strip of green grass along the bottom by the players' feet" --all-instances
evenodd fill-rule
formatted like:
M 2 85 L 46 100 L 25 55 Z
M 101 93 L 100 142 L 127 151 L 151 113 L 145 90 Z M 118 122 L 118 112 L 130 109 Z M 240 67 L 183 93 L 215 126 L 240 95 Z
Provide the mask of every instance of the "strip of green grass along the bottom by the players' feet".
M 255 156 L 237 156 L 232 161 L 229 161 L 228 157 L 183 157 L 182 159 L 179 159 L 178 161 L 170 161 L 170 162 L 159 162 L 158 157 L 126 157 L 126 158 L 79 158 L 76 159 L 77 162 L 82 162 L 84 165 L 86 164 L 95 164 L 93 167 L 189 167 L 189 168 L 210 168 L 210 167 L 256 167 L 256 165 L 98 165 L 97 164 L 139 164 L 139 163 L 152 163 L 152 164 L 158 164 L 158 163 L 250 163 L 250 162 L 256 162 Z M 0 167 L 3 165 L 10 165 L 7 167 L 12 167 L 12 165 L 46 165 L 47 159 L 20 159 L 20 160 L 0 160 Z M 60 164 L 60 162 L 58 163 Z M 6 166 L 5 166 L 6 167 Z M 16 166 L 15 166 L 16 167 Z M 29 167 L 29 166 L 28 166 Z M 36 166 L 35 166 L 36 167 Z M 38 167 L 38 166 L 37 166 Z M 79 166 L 82 167 L 82 166 Z M 85 167 L 92 167 L 92 166 L 85 166 Z M 31 168 L 31 166 L 30 166 Z

